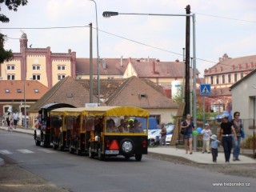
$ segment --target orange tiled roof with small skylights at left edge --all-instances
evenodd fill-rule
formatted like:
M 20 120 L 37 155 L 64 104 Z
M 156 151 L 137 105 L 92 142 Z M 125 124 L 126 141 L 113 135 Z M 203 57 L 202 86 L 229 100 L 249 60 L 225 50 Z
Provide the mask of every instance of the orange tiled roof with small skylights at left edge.
M 10 90 L 10 93 L 6 93 Z M 18 93 L 21 90 L 21 93 Z M 38 90 L 38 93 L 35 92 Z M 26 80 L 26 99 L 38 100 L 46 94 L 48 87 L 41 82 Z M 21 80 L 0 80 L 0 100 L 23 100 L 24 99 L 24 81 Z

